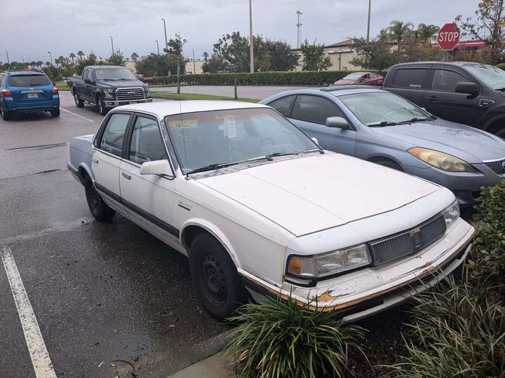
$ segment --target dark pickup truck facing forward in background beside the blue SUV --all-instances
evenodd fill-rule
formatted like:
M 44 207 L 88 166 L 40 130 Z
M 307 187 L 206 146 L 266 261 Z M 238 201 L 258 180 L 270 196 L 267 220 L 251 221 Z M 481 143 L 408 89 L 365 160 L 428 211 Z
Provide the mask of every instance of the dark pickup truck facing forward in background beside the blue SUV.
M 152 102 L 147 84 L 123 66 L 86 66 L 80 78 L 70 78 L 70 85 L 78 108 L 87 102 L 102 116 L 114 106 Z

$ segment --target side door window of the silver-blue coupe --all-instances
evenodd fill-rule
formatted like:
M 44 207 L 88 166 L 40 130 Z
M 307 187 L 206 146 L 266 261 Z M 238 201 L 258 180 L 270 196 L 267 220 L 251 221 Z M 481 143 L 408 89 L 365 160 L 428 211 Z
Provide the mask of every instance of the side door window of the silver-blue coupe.
M 319 96 L 299 95 L 291 118 L 325 125 L 326 118 L 344 117 L 344 113 L 330 100 Z

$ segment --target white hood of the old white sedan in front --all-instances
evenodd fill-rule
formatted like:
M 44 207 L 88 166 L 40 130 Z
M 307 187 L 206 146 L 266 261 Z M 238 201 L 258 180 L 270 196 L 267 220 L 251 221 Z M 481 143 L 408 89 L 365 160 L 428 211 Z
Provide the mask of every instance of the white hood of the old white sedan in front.
M 440 187 L 337 153 L 198 179 L 302 236 L 403 207 Z

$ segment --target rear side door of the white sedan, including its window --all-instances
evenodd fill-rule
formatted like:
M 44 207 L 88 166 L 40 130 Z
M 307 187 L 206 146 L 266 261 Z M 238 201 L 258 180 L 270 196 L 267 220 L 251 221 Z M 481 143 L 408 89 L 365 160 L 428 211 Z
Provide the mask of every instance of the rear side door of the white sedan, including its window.
M 123 156 L 123 144 L 130 122 L 127 112 L 111 113 L 95 139 L 91 170 L 95 176 L 95 187 L 107 204 L 116 210 L 123 210 L 119 169 Z

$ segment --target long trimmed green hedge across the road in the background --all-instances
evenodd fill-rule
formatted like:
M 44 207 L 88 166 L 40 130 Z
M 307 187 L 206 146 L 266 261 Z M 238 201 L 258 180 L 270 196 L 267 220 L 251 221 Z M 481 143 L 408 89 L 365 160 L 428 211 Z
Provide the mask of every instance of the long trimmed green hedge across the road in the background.
M 237 73 L 239 85 L 325 85 L 356 71 L 286 71 Z M 372 71 L 385 75 L 387 71 Z M 234 73 L 201 73 L 197 75 L 180 75 L 181 84 L 193 85 L 234 85 Z M 155 84 L 175 84 L 177 76 L 156 76 Z

